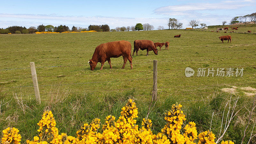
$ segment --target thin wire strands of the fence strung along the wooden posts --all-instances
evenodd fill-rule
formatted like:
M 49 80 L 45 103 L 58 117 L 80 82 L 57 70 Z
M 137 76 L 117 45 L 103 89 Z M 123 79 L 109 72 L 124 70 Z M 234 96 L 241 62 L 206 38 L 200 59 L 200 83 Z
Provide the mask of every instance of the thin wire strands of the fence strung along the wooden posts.
M 239 57 L 239 58 L 225 58 L 225 59 L 201 59 L 201 60 L 228 60 L 228 59 L 243 59 L 243 58 L 256 58 L 256 57 Z M 171 60 L 171 61 L 159 61 L 160 63 L 163 62 L 174 62 L 174 61 L 200 61 L 200 60 Z M 152 63 L 150 62 L 140 62 L 140 63 L 133 63 L 133 64 L 143 64 L 143 63 Z M 123 64 L 123 63 L 122 63 Z M 114 65 L 114 64 L 113 64 Z M 66 66 L 47 66 L 47 67 L 36 67 L 36 68 L 56 68 L 56 67 L 74 67 L 74 66 L 89 66 L 89 65 L 66 65 Z M 229 66 L 229 67 L 211 67 L 211 68 L 233 68 L 233 67 L 254 67 L 256 65 L 245 65 L 245 66 Z M 25 69 L 25 68 L 12 68 L 12 69 Z M 1 69 L 1 70 L 12 70 L 12 69 Z M 158 71 L 179 71 L 179 70 L 185 70 L 185 69 L 158 69 Z M 151 72 L 152 69 L 149 70 L 143 70 L 143 71 L 131 71 L 131 72 L 110 72 L 110 73 L 95 73 L 95 74 L 74 74 L 74 75 L 59 75 L 59 76 L 37 76 L 37 77 L 65 77 L 65 76 L 92 76 L 92 75 L 113 75 L 113 74 L 129 74 L 129 73 L 143 73 L 143 72 Z M 255 74 L 255 73 L 244 73 L 244 74 Z M 200 76 L 192 76 L 192 77 L 200 77 Z M 27 77 L 13 77 L 13 78 L 2 78 L 1 80 L 9 80 L 9 79 L 27 79 L 32 78 L 32 76 Z M 167 77 L 158 77 L 158 79 L 170 79 L 170 78 L 186 78 L 186 76 L 167 76 Z M 81 82 L 81 83 L 69 83 L 69 84 L 46 84 L 46 85 L 38 85 L 39 87 L 45 87 L 45 86 L 62 86 L 62 85 L 76 85 L 76 84 L 97 84 L 97 83 L 109 83 L 109 82 L 124 82 L 124 81 L 141 81 L 141 80 L 152 80 L 153 78 L 137 78 L 137 79 L 123 79 L 123 80 L 110 80 L 110 81 L 92 81 L 92 82 Z M 188 88 L 188 87 L 207 87 L 207 86 L 230 86 L 230 85 L 249 85 L 249 84 L 256 84 L 256 83 L 233 83 L 233 84 L 209 84 L 209 85 L 185 85 L 185 86 L 164 86 L 164 87 L 158 87 L 158 89 L 171 89 L 171 88 Z M 12 86 L 12 87 L 0 87 L 0 88 L 23 88 L 23 87 L 35 87 L 33 85 L 20 85 L 20 86 Z M 117 92 L 123 92 L 128 90 L 151 90 L 152 87 L 133 87 L 133 88 L 121 88 L 121 89 L 107 89 L 107 90 L 90 90 L 90 91 L 84 91 L 84 92 L 68 92 L 68 94 L 84 94 L 84 93 L 97 93 L 97 92 L 110 92 L 110 91 L 117 91 Z M 251 90 L 255 91 L 255 90 Z M 150 91 L 148 91 L 150 92 Z M 221 91 L 221 92 L 230 92 L 230 91 Z M 51 94 L 65 94 L 67 92 L 53 92 L 53 93 L 42 93 L 41 95 L 51 95 Z M 188 93 L 181 93 L 181 92 L 175 92 L 175 93 L 164 93 L 160 95 L 191 95 L 191 94 L 211 94 L 212 92 L 188 92 Z M 35 94 L 28 94 L 28 95 L 35 95 Z M 5 93 L 4 96 L 7 96 Z M 142 95 L 141 95 L 142 96 Z M 145 95 L 146 96 L 146 95 Z M 147 95 L 148 96 L 148 95 Z M 47 101 L 47 100 L 46 100 Z

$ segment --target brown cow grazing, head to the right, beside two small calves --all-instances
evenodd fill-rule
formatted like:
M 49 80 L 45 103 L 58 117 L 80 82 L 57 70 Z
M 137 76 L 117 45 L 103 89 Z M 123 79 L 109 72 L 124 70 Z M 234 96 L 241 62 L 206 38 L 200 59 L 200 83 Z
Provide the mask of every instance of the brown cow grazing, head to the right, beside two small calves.
M 134 55 L 135 51 L 136 51 L 136 55 L 138 55 L 139 50 L 142 50 L 142 51 L 147 50 L 146 56 L 148 56 L 149 51 L 153 50 L 153 52 L 155 54 L 157 54 L 157 52 L 158 52 L 154 42 L 149 41 L 149 40 L 135 40 L 133 44 L 134 44 L 134 49 L 133 49 L 133 54 L 132 55 Z

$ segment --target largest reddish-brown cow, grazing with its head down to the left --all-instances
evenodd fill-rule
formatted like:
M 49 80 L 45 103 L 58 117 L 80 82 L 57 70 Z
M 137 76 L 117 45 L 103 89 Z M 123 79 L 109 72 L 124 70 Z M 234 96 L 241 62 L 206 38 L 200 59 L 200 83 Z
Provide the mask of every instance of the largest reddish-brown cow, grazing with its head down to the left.
M 92 59 L 88 61 L 90 63 L 91 70 L 93 70 L 97 63 L 101 63 L 102 70 L 104 62 L 108 60 L 108 63 L 110 65 L 110 68 L 112 69 L 110 58 L 118 58 L 120 56 L 123 56 L 124 58 L 124 65 L 122 68 L 124 68 L 127 59 L 129 60 L 131 64 L 132 69 L 132 45 L 128 41 L 115 41 L 115 42 L 108 42 L 104 44 L 100 44 L 96 47 Z

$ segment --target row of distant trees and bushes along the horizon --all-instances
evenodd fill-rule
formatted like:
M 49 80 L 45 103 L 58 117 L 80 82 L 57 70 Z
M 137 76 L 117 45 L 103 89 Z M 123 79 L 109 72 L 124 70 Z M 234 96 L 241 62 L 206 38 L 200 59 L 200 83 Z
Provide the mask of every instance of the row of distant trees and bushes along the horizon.
M 253 21 L 256 23 L 256 12 L 252 14 L 247 14 L 244 16 L 236 16 L 232 18 L 230 21 L 230 25 L 239 23 L 239 22 L 246 22 L 247 20 Z M 190 20 L 188 22 L 188 25 L 191 26 L 192 28 L 196 28 L 199 26 L 200 21 L 199 20 Z M 227 23 L 227 21 L 222 21 L 222 25 L 224 26 Z M 170 18 L 168 20 L 168 23 L 166 24 L 169 29 L 181 29 L 182 28 L 182 23 L 179 22 L 179 20 L 175 18 Z M 204 28 L 207 25 L 205 23 L 200 23 L 201 27 Z M 149 23 L 141 24 L 137 23 L 135 26 L 127 26 L 127 27 L 116 27 L 115 29 L 110 29 L 107 24 L 105 25 L 89 25 L 88 28 L 81 28 L 81 27 L 75 27 L 73 26 L 71 29 L 68 28 L 66 25 L 60 25 L 58 27 L 54 27 L 52 25 L 46 25 L 44 26 L 39 25 L 36 27 L 21 27 L 21 26 L 10 26 L 8 28 L 0 28 L 0 34 L 32 34 L 35 32 L 43 32 L 43 31 L 49 31 L 49 32 L 65 32 L 65 31 L 75 31 L 75 32 L 81 32 L 81 31 L 89 31 L 89 30 L 95 30 L 97 32 L 105 32 L 105 31 L 135 31 L 135 30 L 154 30 L 154 26 L 150 25 Z M 163 26 L 158 26 L 156 28 L 157 30 L 163 30 Z

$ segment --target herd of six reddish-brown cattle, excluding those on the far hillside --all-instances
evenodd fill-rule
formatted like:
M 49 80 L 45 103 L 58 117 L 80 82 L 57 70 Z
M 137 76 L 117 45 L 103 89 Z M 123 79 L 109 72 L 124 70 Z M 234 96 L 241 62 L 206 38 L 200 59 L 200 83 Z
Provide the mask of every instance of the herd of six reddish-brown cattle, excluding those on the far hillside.
M 174 37 L 180 37 L 181 35 L 176 35 Z M 220 36 L 220 40 L 230 40 L 231 43 L 231 36 Z M 110 69 L 112 69 L 110 58 L 118 58 L 120 56 L 123 56 L 124 64 L 122 69 L 124 68 L 127 60 L 129 60 L 131 69 L 132 69 L 132 56 L 134 55 L 134 52 L 136 52 L 136 55 L 138 55 L 139 50 L 147 50 L 147 56 L 149 51 L 153 51 L 156 55 L 158 54 L 157 47 L 159 46 L 159 50 L 161 51 L 161 47 L 165 45 L 165 50 L 169 50 L 169 42 L 165 43 L 154 43 L 150 40 L 135 40 L 134 41 L 134 49 L 132 54 L 132 44 L 128 41 L 115 41 L 115 42 L 108 42 L 104 44 L 100 44 L 96 47 L 92 59 L 88 61 L 90 64 L 91 70 L 94 70 L 94 68 L 97 66 L 97 63 L 101 63 L 102 70 L 104 63 L 108 60 L 108 64 L 110 66 Z

